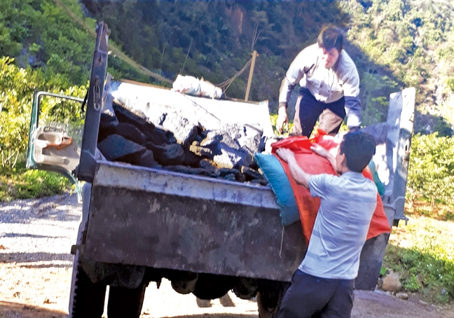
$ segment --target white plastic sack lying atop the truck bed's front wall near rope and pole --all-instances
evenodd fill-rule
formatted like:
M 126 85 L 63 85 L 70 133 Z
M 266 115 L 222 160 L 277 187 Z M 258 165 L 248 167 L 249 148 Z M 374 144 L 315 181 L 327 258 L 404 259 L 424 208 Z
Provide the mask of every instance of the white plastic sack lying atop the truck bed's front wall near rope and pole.
M 172 88 L 175 92 L 181 92 L 191 96 L 203 96 L 212 99 L 219 99 L 222 96 L 221 88 L 193 76 L 178 75 L 172 84 Z

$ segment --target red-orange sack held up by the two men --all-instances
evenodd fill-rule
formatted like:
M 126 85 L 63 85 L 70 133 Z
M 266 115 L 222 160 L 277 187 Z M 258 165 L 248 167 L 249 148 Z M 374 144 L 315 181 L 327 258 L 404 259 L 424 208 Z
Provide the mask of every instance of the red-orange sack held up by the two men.
M 315 218 L 320 206 L 320 198 L 312 198 L 307 188 L 296 184 L 296 181 L 291 177 L 289 166 L 275 154 L 275 151 L 277 148 L 288 148 L 291 151 L 294 151 L 296 162 L 308 174 L 336 174 L 331 166 L 331 163 L 329 163 L 326 158 L 322 158 L 310 150 L 312 143 L 319 144 L 326 150 L 336 148 L 339 145 L 338 141 L 333 139 L 333 137 L 326 136 L 326 133 L 322 130 L 318 130 L 318 134 L 316 134 L 313 139 L 308 139 L 304 136 L 289 137 L 271 145 L 273 148 L 272 153 L 277 157 L 277 159 L 280 160 L 287 177 L 289 177 L 291 188 L 295 194 L 296 205 L 298 205 L 301 226 L 303 226 L 303 235 L 306 242 L 309 242 L 310 235 L 312 234 L 312 228 L 314 228 Z M 369 167 L 364 169 L 363 175 L 373 181 Z M 390 223 L 388 223 L 385 211 L 383 210 L 383 202 L 380 195 L 377 193 L 377 207 L 375 212 L 373 212 L 366 239 L 369 240 L 371 237 L 376 237 L 381 233 L 389 233 L 390 231 Z

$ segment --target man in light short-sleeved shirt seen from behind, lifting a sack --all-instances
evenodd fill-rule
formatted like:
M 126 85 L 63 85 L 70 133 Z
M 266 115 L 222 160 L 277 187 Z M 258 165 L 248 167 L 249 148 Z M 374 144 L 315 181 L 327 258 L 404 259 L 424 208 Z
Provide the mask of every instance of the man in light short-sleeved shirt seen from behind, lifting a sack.
M 321 146 L 312 151 L 329 160 L 340 176 L 308 174 L 294 153 L 277 149 L 291 177 L 321 198 L 303 262 L 294 273 L 277 318 L 349 318 L 361 254 L 377 204 L 377 188 L 362 170 L 376 143 L 365 132 L 345 134 L 336 158 Z

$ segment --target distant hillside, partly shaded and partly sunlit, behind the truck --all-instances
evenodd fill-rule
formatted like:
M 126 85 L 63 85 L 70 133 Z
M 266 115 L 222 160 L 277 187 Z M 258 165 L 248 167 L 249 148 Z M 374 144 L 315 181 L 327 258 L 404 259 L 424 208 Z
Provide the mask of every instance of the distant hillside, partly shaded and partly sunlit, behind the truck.
M 315 42 L 322 25 L 339 25 L 362 78 L 364 124 L 385 119 L 390 92 L 415 86 L 415 131 L 452 134 L 449 1 L 82 2 L 109 23 L 123 50 L 171 79 L 182 73 L 221 83 L 257 50 L 252 98 L 270 99 L 273 109 L 291 60 Z M 246 81 L 243 74 L 227 94 L 244 97 Z

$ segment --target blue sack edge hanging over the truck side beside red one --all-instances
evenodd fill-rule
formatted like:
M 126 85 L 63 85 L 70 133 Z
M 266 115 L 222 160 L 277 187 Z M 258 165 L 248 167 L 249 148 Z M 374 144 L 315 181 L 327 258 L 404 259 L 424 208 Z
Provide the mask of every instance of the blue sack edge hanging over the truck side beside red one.
M 276 195 L 276 202 L 279 205 L 282 225 L 288 226 L 291 223 L 300 221 L 298 206 L 291 188 L 289 178 L 279 160 L 274 155 L 256 153 L 254 161 L 260 167 L 263 175 L 268 180 L 273 192 Z

